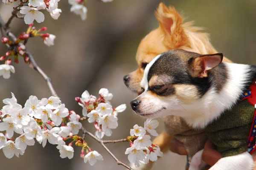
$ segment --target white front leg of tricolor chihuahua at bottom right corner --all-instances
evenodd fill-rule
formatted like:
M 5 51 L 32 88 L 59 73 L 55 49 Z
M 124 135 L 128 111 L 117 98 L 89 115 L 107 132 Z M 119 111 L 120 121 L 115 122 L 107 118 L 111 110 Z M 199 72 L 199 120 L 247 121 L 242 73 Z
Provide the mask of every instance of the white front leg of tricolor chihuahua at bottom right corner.
M 209 170 L 252 170 L 253 157 L 248 152 L 227 156 L 218 160 Z

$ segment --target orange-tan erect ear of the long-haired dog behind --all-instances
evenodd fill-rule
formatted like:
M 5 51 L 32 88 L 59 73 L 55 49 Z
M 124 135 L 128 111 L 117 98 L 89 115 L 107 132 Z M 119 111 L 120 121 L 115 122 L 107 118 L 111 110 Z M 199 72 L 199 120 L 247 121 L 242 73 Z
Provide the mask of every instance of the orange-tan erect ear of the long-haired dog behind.
M 180 48 L 183 45 L 190 45 L 182 26 L 183 18 L 174 7 L 167 7 L 160 3 L 155 16 L 165 34 L 164 43 L 167 47 Z

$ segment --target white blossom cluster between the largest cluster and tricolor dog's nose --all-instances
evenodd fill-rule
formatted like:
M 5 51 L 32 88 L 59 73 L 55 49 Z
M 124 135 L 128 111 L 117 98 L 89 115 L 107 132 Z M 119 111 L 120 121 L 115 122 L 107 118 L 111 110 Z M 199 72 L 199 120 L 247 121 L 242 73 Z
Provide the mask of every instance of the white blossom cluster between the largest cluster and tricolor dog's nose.
M 105 135 L 111 136 L 112 130 L 118 126 L 117 114 L 126 109 L 126 105 L 122 104 L 116 108 L 112 108 L 109 100 L 113 95 L 108 89 L 99 90 L 99 98 L 90 95 L 88 91 L 84 91 L 81 97 L 76 97 L 76 101 L 83 108 L 83 116 L 87 116 L 88 122 L 94 123 L 96 128 L 95 136 L 102 139 Z

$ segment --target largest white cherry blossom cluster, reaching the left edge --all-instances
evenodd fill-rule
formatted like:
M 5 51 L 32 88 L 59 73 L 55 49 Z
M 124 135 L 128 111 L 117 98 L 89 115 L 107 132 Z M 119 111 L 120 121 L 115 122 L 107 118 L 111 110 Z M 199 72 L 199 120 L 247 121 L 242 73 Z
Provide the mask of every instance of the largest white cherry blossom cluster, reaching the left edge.
M 0 149 L 7 158 L 23 155 L 27 145 L 35 144 L 34 138 L 43 147 L 47 141 L 58 144 L 61 158 L 73 157 L 73 147 L 65 145 L 64 138 L 79 132 L 80 116 L 69 112 L 58 97 L 38 100 L 36 96 L 29 96 L 22 107 L 12 94 L 12 98 L 3 99 L 3 103 L 6 105 L 1 110 L 0 131 L 5 133 L 0 133 Z

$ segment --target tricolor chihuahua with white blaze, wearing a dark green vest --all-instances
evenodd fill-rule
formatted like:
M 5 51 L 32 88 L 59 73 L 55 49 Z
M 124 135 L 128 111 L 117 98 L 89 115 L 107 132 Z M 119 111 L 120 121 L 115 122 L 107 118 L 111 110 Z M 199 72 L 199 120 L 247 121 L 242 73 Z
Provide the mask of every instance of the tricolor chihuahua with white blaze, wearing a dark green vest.
M 247 138 L 255 108 L 241 97 L 255 81 L 256 66 L 222 59 L 221 53 L 181 49 L 159 54 L 145 67 L 144 92 L 131 107 L 146 118 L 181 116 L 195 129 L 205 129 L 223 156 L 210 170 L 252 170 Z M 193 156 L 189 170 L 201 169 L 201 154 Z

